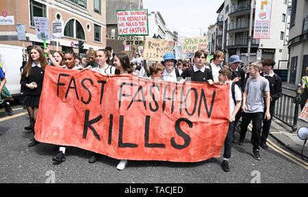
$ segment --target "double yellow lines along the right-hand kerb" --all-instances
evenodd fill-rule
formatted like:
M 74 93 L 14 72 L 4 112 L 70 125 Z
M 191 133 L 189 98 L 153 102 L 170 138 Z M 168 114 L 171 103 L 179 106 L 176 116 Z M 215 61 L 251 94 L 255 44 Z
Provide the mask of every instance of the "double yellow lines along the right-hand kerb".
M 248 128 L 250 129 L 249 131 L 251 132 L 253 127 L 251 126 L 251 124 L 249 124 Z M 267 139 L 267 143 L 268 143 L 268 147 L 272 148 L 272 150 L 278 152 L 279 154 L 283 155 L 287 159 L 290 159 L 294 163 L 296 163 L 296 164 L 298 164 L 302 167 L 305 167 L 308 170 L 308 163 L 307 162 L 305 162 L 302 159 L 299 159 L 298 157 L 294 156 L 294 154 L 291 154 L 290 152 L 283 150 L 282 148 L 277 146 L 274 142 L 270 141 L 270 139 Z

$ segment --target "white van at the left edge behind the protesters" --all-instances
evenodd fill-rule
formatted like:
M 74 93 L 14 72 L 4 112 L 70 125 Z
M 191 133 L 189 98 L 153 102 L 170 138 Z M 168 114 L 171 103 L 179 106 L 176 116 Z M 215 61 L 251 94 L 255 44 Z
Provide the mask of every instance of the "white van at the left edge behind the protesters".
M 21 71 L 23 65 L 23 47 L 0 45 L 0 58 L 5 62 L 7 71 L 5 86 L 13 97 L 21 95 Z

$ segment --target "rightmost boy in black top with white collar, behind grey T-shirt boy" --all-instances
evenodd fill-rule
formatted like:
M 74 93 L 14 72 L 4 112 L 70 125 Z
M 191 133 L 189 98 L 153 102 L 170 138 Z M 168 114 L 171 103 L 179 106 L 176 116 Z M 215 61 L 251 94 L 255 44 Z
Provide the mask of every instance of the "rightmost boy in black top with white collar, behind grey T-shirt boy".
M 279 76 L 272 70 L 276 62 L 272 59 L 264 59 L 261 61 L 262 73 L 261 76 L 270 82 L 270 119 L 263 120 L 262 134 L 261 134 L 261 148 L 268 149 L 266 139 L 270 132 L 270 124 L 272 123 L 272 116 L 274 115 L 275 102 L 282 96 L 282 84 Z

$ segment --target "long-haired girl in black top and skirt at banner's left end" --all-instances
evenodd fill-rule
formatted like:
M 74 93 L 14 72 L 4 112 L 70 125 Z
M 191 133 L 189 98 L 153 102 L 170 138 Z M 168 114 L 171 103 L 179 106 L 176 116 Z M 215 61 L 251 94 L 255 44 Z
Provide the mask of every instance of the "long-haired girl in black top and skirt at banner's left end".
M 21 104 L 27 107 L 30 118 L 31 129 L 35 135 L 34 125 L 38 114 L 38 106 L 40 102 L 40 94 L 42 93 L 42 82 L 44 79 L 44 70 L 47 66 L 47 60 L 44 57 L 44 51 L 39 46 L 31 49 L 27 64 L 21 75 L 21 87 L 23 95 L 21 96 Z M 36 146 L 39 142 L 34 138 L 29 147 Z

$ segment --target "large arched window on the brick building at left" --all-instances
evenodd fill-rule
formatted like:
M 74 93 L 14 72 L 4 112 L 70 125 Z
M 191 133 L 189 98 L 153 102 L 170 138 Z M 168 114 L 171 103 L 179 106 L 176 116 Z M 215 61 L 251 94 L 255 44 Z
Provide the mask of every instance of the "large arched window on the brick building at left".
M 70 21 L 66 23 L 64 29 L 64 36 L 68 36 L 70 38 L 77 38 L 80 40 L 86 40 L 84 28 L 82 28 L 82 25 L 76 19 L 70 19 Z

